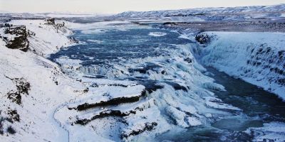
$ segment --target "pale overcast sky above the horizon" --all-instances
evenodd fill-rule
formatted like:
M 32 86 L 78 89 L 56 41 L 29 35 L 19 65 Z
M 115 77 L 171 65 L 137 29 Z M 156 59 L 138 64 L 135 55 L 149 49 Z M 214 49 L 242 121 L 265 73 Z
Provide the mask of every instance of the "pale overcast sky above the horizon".
M 0 0 L 0 11 L 120 13 L 272 4 L 285 4 L 285 0 Z

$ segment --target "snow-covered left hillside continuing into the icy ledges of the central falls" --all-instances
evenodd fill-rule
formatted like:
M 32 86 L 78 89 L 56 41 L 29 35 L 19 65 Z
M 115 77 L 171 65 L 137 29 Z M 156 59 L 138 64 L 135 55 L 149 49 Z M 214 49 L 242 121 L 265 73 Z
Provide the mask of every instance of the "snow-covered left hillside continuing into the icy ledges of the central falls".
M 161 68 L 167 74 L 163 70 L 162 73 L 149 71 L 150 79 L 169 81 L 150 84 L 151 88 L 148 89 L 133 81 L 84 76 L 76 81 L 67 77 L 58 65 L 43 56 L 71 45 L 71 40 L 66 38 L 71 32 L 64 27 L 56 28 L 55 25 L 44 23 L 46 21 L 26 20 L 9 23 L 14 26 L 24 25 L 30 32 L 27 37 L 30 44 L 26 52 L 6 48 L 6 43 L 2 41 L 1 110 L 4 111 L 1 116 L 14 121 L 11 123 L 7 119 L 1 122 L 5 133 L 1 137 L 5 141 L 93 141 L 94 138 L 97 141 L 120 141 L 121 138 L 125 141 L 139 140 L 154 138 L 157 133 L 177 126 L 187 128 L 232 115 L 224 111 L 227 109 L 241 111 L 222 103 L 214 93 L 207 90 L 224 91 L 224 87 L 202 75 L 205 69 L 195 61 L 189 45 L 175 48 L 172 58 L 130 60 L 125 67 L 135 67 L 144 62 L 161 66 L 165 65 L 163 62 L 170 62 Z M 81 62 L 63 60 L 61 63 L 71 63 L 67 67 L 76 69 Z M 119 67 L 117 70 L 124 70 L 128 75 L 131 73 L 128 73 L 128 68 Z M 172 75 L 177 78 L 172 78 Z M 7 131 L 9 126 L 16 131 L 15 134 Z

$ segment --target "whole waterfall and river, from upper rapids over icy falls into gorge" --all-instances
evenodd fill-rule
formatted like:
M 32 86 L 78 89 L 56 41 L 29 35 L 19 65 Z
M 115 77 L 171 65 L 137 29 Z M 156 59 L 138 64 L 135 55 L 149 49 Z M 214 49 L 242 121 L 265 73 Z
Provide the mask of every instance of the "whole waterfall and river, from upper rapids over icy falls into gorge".
M 284 113 L 270 111 L 277 110 L 271 102 L 284 106 L 281 99 L 209 69 L 215 75 L 211 76 L 192 55 L 196 43 L 179 33 L 110 23 L 75 31 L 73 36 L 83 44 L 63 49 L 51 60 L 98 94 L 67 107 L 83 110 L 68 116 L 69 124 L 83 124 L 114 141 L 251 141 L 246 132 L 250 127 L 285 121 Z M 130 95 L 142 89 L 140 85 L 146 93 Z M 80 131 L 68 128 L 71 133 Z

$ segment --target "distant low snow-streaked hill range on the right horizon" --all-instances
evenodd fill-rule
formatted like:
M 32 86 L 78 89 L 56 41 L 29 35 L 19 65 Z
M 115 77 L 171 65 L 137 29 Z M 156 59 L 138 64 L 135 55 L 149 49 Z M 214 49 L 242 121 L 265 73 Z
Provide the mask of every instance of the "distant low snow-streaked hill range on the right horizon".
M 279 18 L 285 13 L 285 4 L 274 6 L 243 6 L 224 8 L 180 9 L 169 11 L 127 11 L 116 18 L 169 18 L 178 21 L 229 21 L 246 18 Z

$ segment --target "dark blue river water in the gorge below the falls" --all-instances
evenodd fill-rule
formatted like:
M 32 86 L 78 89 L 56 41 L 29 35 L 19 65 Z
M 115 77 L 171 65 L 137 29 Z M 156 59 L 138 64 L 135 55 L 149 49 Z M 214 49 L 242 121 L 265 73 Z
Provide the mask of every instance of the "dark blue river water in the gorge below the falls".
M 173 133 L 169 131 L 157 137 L 157 141 L 252 141 L 252 136 L 244 133 L 251 127 L 262 127 L 271 121 L 285 122 L 285 102 L 248 82 L 230 77 L 212 67 L 207 70 L 215 82 L 222 84 L 226 92 L 212 90 L 219 99 L 242 109 L 242 114 L 215 121 L 210 126 L 197 126 Z

